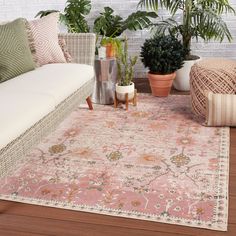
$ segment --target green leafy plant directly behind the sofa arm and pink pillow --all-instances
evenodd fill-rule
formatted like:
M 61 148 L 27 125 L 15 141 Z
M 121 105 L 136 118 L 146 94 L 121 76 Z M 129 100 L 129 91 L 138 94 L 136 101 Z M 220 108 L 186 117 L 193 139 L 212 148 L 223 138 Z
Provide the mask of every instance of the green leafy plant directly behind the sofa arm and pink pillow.
M 92 8 L 90 0 L 67 0 L 64 13 L 60 13 L 60 21 L 64 23 L 70 33 L 88 33 L 89 26 L 85 17 Z M 36 17 L 43 17 L 56 10 L 40 11 Z

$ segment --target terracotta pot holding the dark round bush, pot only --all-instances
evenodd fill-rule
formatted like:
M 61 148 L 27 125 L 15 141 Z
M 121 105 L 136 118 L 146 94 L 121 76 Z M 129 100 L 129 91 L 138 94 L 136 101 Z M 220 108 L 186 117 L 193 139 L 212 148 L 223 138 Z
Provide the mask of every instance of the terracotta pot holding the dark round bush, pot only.
M 158 75 L 148 73 L 148 79 L 152 89 L 152 95 L 156 97 L 167 97 L 173 84 L 176 73 L 168 75 Z

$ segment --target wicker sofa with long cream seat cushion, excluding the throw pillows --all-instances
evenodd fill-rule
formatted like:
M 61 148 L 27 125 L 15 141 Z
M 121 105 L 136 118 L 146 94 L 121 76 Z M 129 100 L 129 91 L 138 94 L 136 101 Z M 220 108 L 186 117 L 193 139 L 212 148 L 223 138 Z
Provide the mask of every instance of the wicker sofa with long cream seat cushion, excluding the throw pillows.
M 95 35 L 60 37 L 73 63 L 48 64 L 0 84 L 0 176 L 93 91 Z

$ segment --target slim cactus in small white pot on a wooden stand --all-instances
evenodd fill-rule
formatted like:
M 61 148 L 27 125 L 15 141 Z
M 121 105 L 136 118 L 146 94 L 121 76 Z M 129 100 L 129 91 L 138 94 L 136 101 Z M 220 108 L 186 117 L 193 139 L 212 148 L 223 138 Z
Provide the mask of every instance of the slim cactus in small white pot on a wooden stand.
M 124 39 L 124 46 L 121 47 L 117 54 L 117 80 L 116 95 L 120 101 L 125 101 L 125 95 L 128 94 L 128 99 L 134 98 L 134 66 L 137 63 L 138 57 L 130 57 L 128 55 L 128 40 Z

